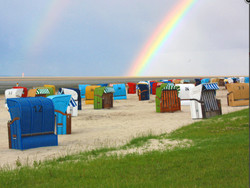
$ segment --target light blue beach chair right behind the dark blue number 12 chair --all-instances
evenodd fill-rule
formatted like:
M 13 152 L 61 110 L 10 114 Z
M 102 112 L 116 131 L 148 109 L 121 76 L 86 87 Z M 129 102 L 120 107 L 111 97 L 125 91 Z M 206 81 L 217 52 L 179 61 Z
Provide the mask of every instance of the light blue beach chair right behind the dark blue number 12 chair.
M 50 95 L 47 98 L 54 104 L 57 134 L 71 134 L 71 114 L 67 113 L 71 95 Z

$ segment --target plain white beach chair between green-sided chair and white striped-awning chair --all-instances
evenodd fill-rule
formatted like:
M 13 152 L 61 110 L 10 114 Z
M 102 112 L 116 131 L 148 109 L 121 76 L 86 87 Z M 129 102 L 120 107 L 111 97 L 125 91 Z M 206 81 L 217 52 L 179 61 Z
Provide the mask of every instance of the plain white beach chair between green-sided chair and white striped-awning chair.
M 190 90 L 194 88 L 195 85 L 194 84 L 176 84 L 176 86 L 180 87 L 179 98 L 181 99 L 181 105 L 189 106 L 190 101 L 186 99 L 190 99 Z

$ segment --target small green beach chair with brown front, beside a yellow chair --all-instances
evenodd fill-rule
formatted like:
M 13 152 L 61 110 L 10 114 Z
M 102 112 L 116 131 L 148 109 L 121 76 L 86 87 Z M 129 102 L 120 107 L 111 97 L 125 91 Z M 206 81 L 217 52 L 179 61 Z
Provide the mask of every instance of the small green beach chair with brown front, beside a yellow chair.
M 110 109 L 113 108 L 112 87 L 98 87 L 94 91 L 94 109 Z

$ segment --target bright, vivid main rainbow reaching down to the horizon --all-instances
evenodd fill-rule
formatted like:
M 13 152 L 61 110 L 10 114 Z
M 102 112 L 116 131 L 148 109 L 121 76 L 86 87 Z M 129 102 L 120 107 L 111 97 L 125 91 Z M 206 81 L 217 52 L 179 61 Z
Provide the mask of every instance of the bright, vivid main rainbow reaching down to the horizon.
M 133 61 L 129 69 L 128 76 L 142 76 L 143 72 L 150 65 L 151 60 L 159 49 L 165 44 L 171 33 L 180 23 L 182 18 L 190 10 L 197 0 L 181 0 L 170 13 L 167 13 L 154 34 L 147 41 L 137 58 Z

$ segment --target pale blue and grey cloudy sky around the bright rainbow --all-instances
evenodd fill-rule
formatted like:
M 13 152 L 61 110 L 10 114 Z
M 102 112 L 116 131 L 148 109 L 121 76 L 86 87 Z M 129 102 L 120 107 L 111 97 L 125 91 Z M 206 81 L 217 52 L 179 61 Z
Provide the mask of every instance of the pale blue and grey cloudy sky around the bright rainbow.
M 132 71 L 184 1 L 192 0 L 0 0 L 0 76 L 248 75 L 245 0 L 193 0 Z

